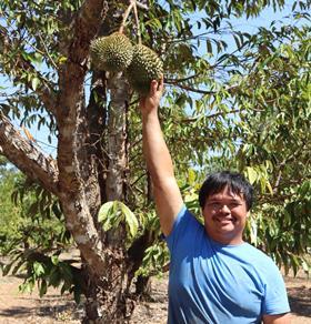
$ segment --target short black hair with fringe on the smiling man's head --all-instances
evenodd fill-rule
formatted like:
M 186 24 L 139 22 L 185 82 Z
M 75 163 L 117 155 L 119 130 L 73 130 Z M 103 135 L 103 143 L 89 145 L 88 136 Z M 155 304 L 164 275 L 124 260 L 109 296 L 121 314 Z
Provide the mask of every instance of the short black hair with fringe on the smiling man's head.
M 242 195 L 249 211 L 253 204 L 253 188 L 245 178 L 238 172 L 221 171 L 208 175 L 199 191 L 199 203 L 204 207 L 207 199 L 214 193 L 221 192 L 225 186 L 233 193 Z

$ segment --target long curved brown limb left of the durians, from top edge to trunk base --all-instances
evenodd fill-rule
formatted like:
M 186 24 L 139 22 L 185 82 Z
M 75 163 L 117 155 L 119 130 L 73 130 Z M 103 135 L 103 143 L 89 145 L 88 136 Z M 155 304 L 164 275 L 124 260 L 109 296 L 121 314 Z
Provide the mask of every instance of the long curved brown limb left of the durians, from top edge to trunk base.
M 57 107 L 59 189 L 66 224 L 84 260 L 98 275 L 102 275 L 106 269 L 106 259 L 96 229 L 96 214 L 90 212 L 98 206 L 89 205 L 84 185 L 98 185 L 88 150 L 90 133 L 84 105 L 84 78 L 90 42 L 98 34 L 107 11 L 108 1 L 86 0 L 72 21 L 72 37 L 66 47 L 68 60 L 59 71 Z M 91 201 L 100 202 L 97 198 Z

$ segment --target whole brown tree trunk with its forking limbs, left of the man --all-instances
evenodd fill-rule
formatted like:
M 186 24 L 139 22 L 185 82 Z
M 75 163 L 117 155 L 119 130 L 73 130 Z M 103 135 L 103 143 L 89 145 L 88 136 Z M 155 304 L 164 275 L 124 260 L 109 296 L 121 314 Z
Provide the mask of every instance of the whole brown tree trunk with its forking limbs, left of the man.
M 92 85 L 101 91 L 101 109 L 97 109 L 92 97 L 86 107 L 84 95 L 90 42 L 109 18 L 109 6 L 113 6 L 110 2 L 82 1 L 63 41 L 58 43 L 66 58 L 57 70 L 58 84 L 49 84 L 50 89 L 42 83 L 44 87 L 38 91 L 57 124 L 57 158 L 44 156 L 0 113 L 0 150 L 29 178 L 58 196 L 66 227 L 81 252 L 87 279 L 82 287 L 87 297 L 84 323 L 127 323 L 133 311 L 126 224 L 104 233 L 97 219 L 104 202 L 127 203 L 129 87 L 121 73 L 110 75 L 107 109 L 106 80 L 103 74 L 94 73 Z M 114 19 L 116 16 L 111 18 Z

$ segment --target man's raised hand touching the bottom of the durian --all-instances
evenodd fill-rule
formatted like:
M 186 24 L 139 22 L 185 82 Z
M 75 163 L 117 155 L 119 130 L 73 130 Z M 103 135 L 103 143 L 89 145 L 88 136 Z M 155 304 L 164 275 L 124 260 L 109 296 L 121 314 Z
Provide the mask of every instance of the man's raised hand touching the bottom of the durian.
M 158 110 L 163 93 L 163 78 L 159 82 L 157 80 L 151 81 L 149 94 L 140 99 L 140 109 L 142 113 L 149 113 L 153 110 Z

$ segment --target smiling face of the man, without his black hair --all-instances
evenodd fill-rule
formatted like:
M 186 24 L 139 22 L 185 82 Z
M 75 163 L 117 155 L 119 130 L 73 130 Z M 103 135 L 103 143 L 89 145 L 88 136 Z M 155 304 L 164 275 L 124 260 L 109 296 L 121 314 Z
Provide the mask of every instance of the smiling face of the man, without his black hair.
M 212 240 L 222 244 L 243 242 L 242 233 L 249 215 L 243 194 L 235 194 L 225 186 L 208 196 L 202 214 L 205 231 Z

